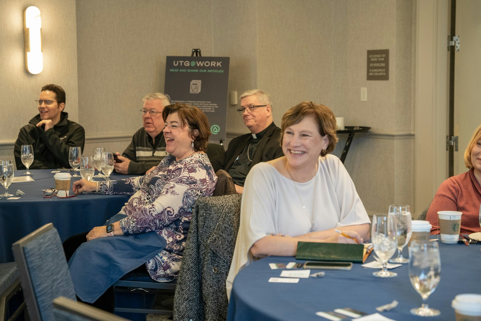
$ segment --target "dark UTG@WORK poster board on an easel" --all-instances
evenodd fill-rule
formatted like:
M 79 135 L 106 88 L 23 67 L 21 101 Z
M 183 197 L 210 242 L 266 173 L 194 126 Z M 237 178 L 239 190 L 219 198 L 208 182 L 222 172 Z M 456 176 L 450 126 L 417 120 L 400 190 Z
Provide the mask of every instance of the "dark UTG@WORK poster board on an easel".
M 164 92 L 209 118 L 211 141 L 226 139 L 229 57 L 167 56 Z

